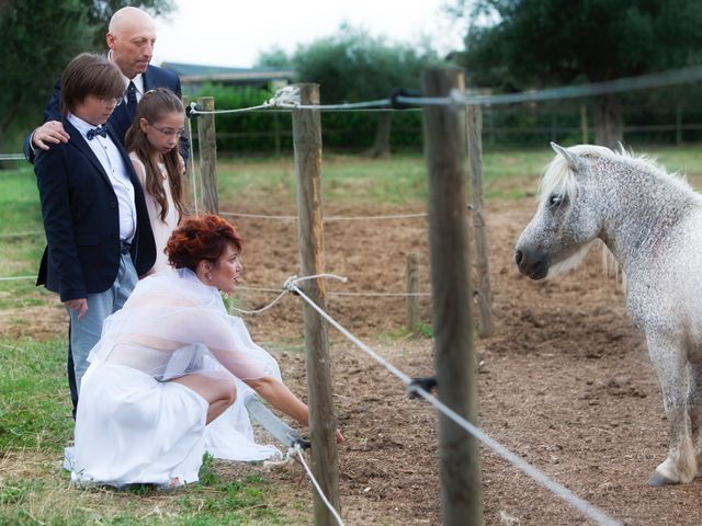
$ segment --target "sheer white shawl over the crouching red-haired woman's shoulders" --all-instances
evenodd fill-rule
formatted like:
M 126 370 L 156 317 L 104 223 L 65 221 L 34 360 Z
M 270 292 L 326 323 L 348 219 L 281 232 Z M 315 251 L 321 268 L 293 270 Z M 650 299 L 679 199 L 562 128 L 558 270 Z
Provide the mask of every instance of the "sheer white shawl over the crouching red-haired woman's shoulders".
M 240 380 L 271 375 L 271 357 L 237 331 L 219 291 L 189 270 L 141 279 L 124 307 L 110 316 L 89 361 L 139 369 L 159 380 L 191 373 L 218 375 L 211 355 Z M 274 363 L 274 361 L 273 361 Z

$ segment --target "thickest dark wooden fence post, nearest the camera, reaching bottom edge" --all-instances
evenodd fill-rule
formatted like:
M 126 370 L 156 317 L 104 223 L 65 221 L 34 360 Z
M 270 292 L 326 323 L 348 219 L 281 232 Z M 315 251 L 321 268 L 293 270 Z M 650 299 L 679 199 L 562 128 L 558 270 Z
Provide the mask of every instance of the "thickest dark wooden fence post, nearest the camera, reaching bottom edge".
M 452 90 L 463 93 L 464 84 L 461 69 L 431 69 L 422 75 L 424 96 L 449 96 Z M 473 287 L 465 209 L 465 123 L 463 111 L 450 106 L 428 106 L 423 114 L 439 398 L 476 424 Z M 482 525 L 477 439 L 440 414 L 439 447 L 442 524 Z

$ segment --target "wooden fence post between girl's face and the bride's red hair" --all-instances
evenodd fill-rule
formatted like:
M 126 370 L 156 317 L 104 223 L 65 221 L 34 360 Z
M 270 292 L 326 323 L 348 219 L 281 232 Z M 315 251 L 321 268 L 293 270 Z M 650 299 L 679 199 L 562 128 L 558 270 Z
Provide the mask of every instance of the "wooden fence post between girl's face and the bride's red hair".
M 212 112 L 215 100 L 212 96 L 197 99 L 202 111 Z M 215 116 L 199 115 L 197 145 L 200 146 L 200 173 L 202 174 L 202 204 L 204 211 L 219 213 L 217 201 L 217 136 L 215 134 Z

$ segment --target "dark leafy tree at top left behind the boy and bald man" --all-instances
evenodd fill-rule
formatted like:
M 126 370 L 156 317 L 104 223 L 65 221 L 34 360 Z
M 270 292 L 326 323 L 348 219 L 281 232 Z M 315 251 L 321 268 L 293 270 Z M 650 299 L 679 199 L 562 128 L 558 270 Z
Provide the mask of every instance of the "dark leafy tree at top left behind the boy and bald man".
M 16 122 L 18 132 L 42 119 L 54 81 L 81 52 L 103 52 L 107 20 L 128 1 L 0 0 L 0 151 Z M 170 9 L 170 0 L 140 2 L 151 12 Z M 103 19 L 99 19 L 103 16 Z

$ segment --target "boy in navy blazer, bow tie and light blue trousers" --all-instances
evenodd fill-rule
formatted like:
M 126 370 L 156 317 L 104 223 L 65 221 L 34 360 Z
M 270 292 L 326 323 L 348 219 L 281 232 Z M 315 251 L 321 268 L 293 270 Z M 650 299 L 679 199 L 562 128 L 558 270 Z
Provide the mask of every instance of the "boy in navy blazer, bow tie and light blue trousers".
M 61 77 L 69 138 L 38 151 L 34 163 L 47 240 L 37 285 L 58 293 L 70 315 L 73 411 L 103 321 L 156 260 L 144 192 L 120 138 L 104 126 L 123 92 L 122 73 L 106 57 L 73 58 Z

